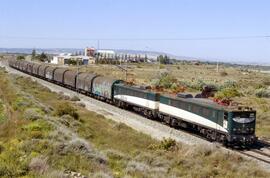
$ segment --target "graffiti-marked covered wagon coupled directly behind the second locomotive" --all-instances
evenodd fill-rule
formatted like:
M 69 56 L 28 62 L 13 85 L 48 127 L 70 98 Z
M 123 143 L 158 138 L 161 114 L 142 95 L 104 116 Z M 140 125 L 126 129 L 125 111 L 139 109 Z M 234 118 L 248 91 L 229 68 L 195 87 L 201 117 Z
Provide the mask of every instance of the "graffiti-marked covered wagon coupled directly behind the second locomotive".
M 122 80 L 98 76 L 93 80 L 92 93 L 103 99 L 113 99 L 113 87 Z

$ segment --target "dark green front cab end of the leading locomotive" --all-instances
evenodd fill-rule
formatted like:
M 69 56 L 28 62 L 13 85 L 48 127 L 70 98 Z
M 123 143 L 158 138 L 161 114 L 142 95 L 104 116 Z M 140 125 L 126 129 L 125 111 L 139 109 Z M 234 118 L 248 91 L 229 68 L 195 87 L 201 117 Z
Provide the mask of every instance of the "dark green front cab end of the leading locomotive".
M 256 111 L 236 110 L 225 113 L 228 122 L 228 141 L 233 144 L 252 145 L 256 142 Z

